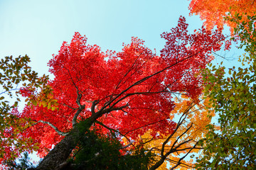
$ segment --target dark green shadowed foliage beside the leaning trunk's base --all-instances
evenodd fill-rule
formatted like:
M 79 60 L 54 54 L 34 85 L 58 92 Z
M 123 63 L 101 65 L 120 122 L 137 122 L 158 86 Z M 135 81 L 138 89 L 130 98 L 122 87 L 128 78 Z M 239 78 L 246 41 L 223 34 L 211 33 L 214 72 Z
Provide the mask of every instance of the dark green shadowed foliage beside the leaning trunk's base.
M 78 128 L 82 132 L 82 125 Z M 86 127 L 86 126 L 83 126 Z M 94 131 L 87 130 L 79 137 L 79 145 L 70 159 L 75 164 L 75 169 L 142 169 L 146 170 L 149 162 L 154 158 L 151 152 L 146 152 L 142 147 L 120 152 L 122 145 L 116 138 L 100 136 Z

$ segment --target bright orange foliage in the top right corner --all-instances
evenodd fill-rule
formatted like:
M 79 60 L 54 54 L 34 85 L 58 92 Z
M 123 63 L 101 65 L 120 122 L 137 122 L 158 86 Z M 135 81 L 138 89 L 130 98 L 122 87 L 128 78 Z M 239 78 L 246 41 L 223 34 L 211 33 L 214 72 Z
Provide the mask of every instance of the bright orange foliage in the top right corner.
M 242 21 L 248 21 L 247 16 L 254 16 L 256 11 L 255 0 L 191 0 L 189 5 L 191 15 L 199 15 L 204 25 L 212 29 L 214 26 L 223 28 L 226 24 L 233 29 L 236 23 L 225 20 L 225 17 L 234 17 L 236 13 L 242 15 Z

